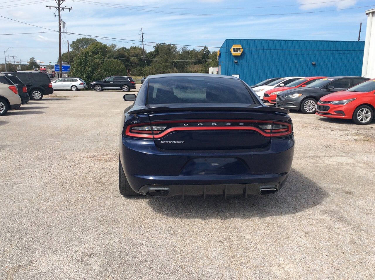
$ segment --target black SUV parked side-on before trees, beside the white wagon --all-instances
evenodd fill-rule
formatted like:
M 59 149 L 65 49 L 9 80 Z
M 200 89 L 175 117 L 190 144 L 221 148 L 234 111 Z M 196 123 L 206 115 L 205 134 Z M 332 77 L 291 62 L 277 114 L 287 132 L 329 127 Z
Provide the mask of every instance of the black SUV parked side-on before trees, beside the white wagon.
M 110 76 L 102 81 L 90 82 L 90 88 L 95 91 L 102 90 L 122 90 L 129 91 L 135 89 L 135 81 L 128 76 Z

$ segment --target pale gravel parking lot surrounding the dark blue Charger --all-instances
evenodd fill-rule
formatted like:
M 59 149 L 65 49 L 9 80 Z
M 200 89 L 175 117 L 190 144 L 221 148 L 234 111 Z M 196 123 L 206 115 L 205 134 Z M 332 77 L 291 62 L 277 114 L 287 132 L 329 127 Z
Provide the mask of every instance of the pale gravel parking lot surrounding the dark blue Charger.
M 2 279 L 374 277 L 374 122 L 292 112 L 276 195 L 127 199 L 123 94 L 56 91 L 0 117 Z

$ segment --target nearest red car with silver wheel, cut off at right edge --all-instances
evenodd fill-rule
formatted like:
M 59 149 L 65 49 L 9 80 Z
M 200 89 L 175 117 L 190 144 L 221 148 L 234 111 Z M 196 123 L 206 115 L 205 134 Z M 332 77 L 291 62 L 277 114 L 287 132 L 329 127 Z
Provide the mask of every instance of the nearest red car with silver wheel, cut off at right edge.
M 347 90 L 323 96 L 315 114 L 327 118 L 352 119 L 356 124 L 369 124 L 375 111 L 375 79 Z

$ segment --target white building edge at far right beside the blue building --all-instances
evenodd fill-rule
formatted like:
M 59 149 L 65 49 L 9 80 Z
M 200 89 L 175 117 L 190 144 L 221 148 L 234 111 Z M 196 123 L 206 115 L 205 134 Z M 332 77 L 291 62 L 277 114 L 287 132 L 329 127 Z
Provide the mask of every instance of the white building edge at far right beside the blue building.
M 365 52 L 363 54 L 362 76 L 375 78 L 375 9 L 367 10 Z

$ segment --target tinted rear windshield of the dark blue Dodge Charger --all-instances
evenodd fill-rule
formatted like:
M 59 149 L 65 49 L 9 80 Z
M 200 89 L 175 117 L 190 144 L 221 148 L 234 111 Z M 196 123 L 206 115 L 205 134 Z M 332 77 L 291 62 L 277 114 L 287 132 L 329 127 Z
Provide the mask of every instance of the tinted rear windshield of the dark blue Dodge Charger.
M 152 78 L 147 104 L 162 103 L 253 104 L 254 101 L 239 79 L 202 76 Z

